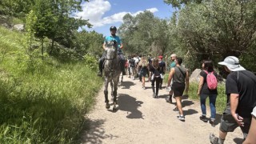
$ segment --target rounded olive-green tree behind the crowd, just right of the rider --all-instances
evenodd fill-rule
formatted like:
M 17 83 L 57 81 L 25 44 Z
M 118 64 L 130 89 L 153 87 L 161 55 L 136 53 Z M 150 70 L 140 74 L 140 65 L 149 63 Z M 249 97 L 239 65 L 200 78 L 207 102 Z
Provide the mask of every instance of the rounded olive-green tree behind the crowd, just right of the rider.
M 167 22 L 154 17 L 150 11 L 136 16 L 126 14 L 119 28 L 120 36 L 128 54 L 163 54 L 166 51 Z

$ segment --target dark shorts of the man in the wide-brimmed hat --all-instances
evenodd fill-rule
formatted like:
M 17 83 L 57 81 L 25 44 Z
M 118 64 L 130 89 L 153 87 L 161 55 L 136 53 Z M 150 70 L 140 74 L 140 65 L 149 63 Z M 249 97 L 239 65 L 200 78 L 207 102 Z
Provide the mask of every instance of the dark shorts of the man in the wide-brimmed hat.
M 244 138 L 247 137 L 247 134 L 250 129 L 251 118 L 243 118 L 244 126 L 240 126 Z M 238 123 L 234 120 L 231 114 L 222 114 L 221 124 L 219 130 L 222 132 L 233 132 L 238 127 Z

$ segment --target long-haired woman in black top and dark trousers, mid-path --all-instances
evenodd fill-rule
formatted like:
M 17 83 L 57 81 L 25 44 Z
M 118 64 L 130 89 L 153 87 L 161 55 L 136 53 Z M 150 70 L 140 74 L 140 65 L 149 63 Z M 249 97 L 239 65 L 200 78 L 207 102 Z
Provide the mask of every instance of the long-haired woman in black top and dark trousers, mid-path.
M 161 82 L 160 66 L 158 58 L 154 58 L 150 65 L 150 81 L 153 90 L 153 97 L 158 98 L 158 90 Z M 154 82 L 156 89 L 154 90 Z

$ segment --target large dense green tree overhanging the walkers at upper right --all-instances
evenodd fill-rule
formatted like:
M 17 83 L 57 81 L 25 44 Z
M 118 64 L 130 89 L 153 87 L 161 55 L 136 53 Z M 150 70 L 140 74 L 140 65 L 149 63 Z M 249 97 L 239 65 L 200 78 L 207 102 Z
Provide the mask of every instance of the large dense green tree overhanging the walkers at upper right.
M 239 57 L 255 46 L 255 6 L 255 1 L 237 0 L 187 4 L 178 11 L 175 41 L 197 63 L 206 58 L 217 62 L 227 55 Z M 198 67 L 197 63 L 191 68 Z

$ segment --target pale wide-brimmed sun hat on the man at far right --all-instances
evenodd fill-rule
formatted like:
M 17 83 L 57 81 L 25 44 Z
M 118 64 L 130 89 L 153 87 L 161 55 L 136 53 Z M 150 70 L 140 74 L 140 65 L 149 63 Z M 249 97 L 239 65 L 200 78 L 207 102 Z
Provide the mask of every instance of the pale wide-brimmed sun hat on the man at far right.
M 228 56 L 223 62 L 218 62 L 218 64 L 226 66 L 230 71 L 246 70 L 240 65 L 239 59 L 234 56 Z

